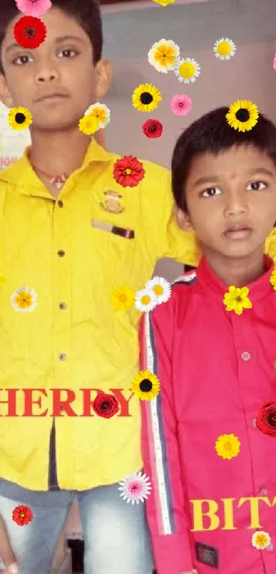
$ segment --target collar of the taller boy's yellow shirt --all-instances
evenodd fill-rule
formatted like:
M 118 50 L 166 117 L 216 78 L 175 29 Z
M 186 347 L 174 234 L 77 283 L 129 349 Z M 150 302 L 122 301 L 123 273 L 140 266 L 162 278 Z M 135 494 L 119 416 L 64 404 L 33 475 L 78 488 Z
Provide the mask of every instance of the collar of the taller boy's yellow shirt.
M 29 149 L 30 147 L 27 147 L 21 158 L 14 162 L 14 164 L 12 164 L 8 169 L 0 172 L 0 181 L 15 184 L 23 195 L 32 195 L 32 189 L 34 188 L 39 188 L 40 190 L 44 189 L 42 182 L 40 182 L 39 177 L 36 175 L 32 169 L 31 163 L 29 162 Z M 75 174 L 79 175 L 81 172 L 85 171 L 91 162 L 114 162 L 116 158 L 117 156 L 114 153 L 105 151 L 105 149 L 97 143 L 95 138 L 92 138 L 86 151 L 86 155 L 84 156 L 84 161 Z M 45 195 L 48 197 L 49 193 L 45 191 Z

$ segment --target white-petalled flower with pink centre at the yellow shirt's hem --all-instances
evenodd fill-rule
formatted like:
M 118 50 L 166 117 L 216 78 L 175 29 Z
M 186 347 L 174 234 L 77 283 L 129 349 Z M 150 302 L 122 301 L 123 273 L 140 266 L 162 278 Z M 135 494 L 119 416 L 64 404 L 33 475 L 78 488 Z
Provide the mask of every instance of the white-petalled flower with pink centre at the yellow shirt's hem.
M 144 502 L 151 494 L 151 482 L 149 482 L 147 475 L 142 475 L 142 471 L 127 475 L 118 484 L 121 485 L 118 487 L 118 490 L 122 490 L 120 496 L 123 497 L 123 500 L 126 500 L 127 503 L 138 504 L 140 501 Z

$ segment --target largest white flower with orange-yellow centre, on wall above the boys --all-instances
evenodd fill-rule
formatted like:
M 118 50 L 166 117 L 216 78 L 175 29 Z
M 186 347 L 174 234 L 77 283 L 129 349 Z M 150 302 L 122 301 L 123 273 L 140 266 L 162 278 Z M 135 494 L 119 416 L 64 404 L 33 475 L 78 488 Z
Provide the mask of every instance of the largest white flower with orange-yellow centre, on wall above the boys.
M 159 40 L 155 42 L 148 53 L 148 60 L 156 71 L 167 74 L 175 69 L 179 58 L 179 46 L 173 40 Z

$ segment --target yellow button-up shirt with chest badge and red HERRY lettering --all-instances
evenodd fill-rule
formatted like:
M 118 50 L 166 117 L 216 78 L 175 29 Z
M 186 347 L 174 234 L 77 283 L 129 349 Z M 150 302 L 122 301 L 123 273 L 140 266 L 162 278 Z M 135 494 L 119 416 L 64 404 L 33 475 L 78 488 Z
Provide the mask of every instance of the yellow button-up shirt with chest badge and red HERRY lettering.
M 199 260 L 195 236 L 181 232 L 171 216 L 169 172 L 144 161 L 144 179 L 123 188 L 113 177 L 117 159 L 92 140 L 56 200 L 27 152 L 0 173 L 6 279 L 0 286 L 0 477 L 32 490 L 48 488 L 58 389 L 62 399 L 68 389 L 75 393 L 69 397 L 73 416 L 55 417 L 60 488 L 112 484 L 142 468 L 140 404 L 130 391 L 138 372 L 140 316 L 135 308 L 114 309 L 112 290 L 140 290 L 162 257 L 190 265 Z M 112 233 L 112 225 L 131 230 L 134 238 Z M 268 243 L 272 253 L 274 236 Z M 32 312 L 16 312 L 11 304 L 23 286 L 38 297 Z M 26 389 L 36 389 L 32 417 L 23 416 L 30 409 Z M 84 416 L 85 392 L 93 401 L 99 390 L 112 389 L 121 405 L 117 414 L 105 419 L 91 408 Z M 17 416 L 7 416 L 8 405 Z

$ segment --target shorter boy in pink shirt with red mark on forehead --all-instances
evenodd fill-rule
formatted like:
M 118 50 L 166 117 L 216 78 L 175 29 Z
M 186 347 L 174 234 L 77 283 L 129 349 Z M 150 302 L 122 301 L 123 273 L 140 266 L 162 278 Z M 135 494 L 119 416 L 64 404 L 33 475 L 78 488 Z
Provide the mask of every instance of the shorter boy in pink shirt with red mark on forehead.
M 142 321 L 141 367 L 160 380 L 142 401 L 158 574 L 276 572 L 276 127 L 227 111 L 177 141 L 175 214 L 203 256 Z

